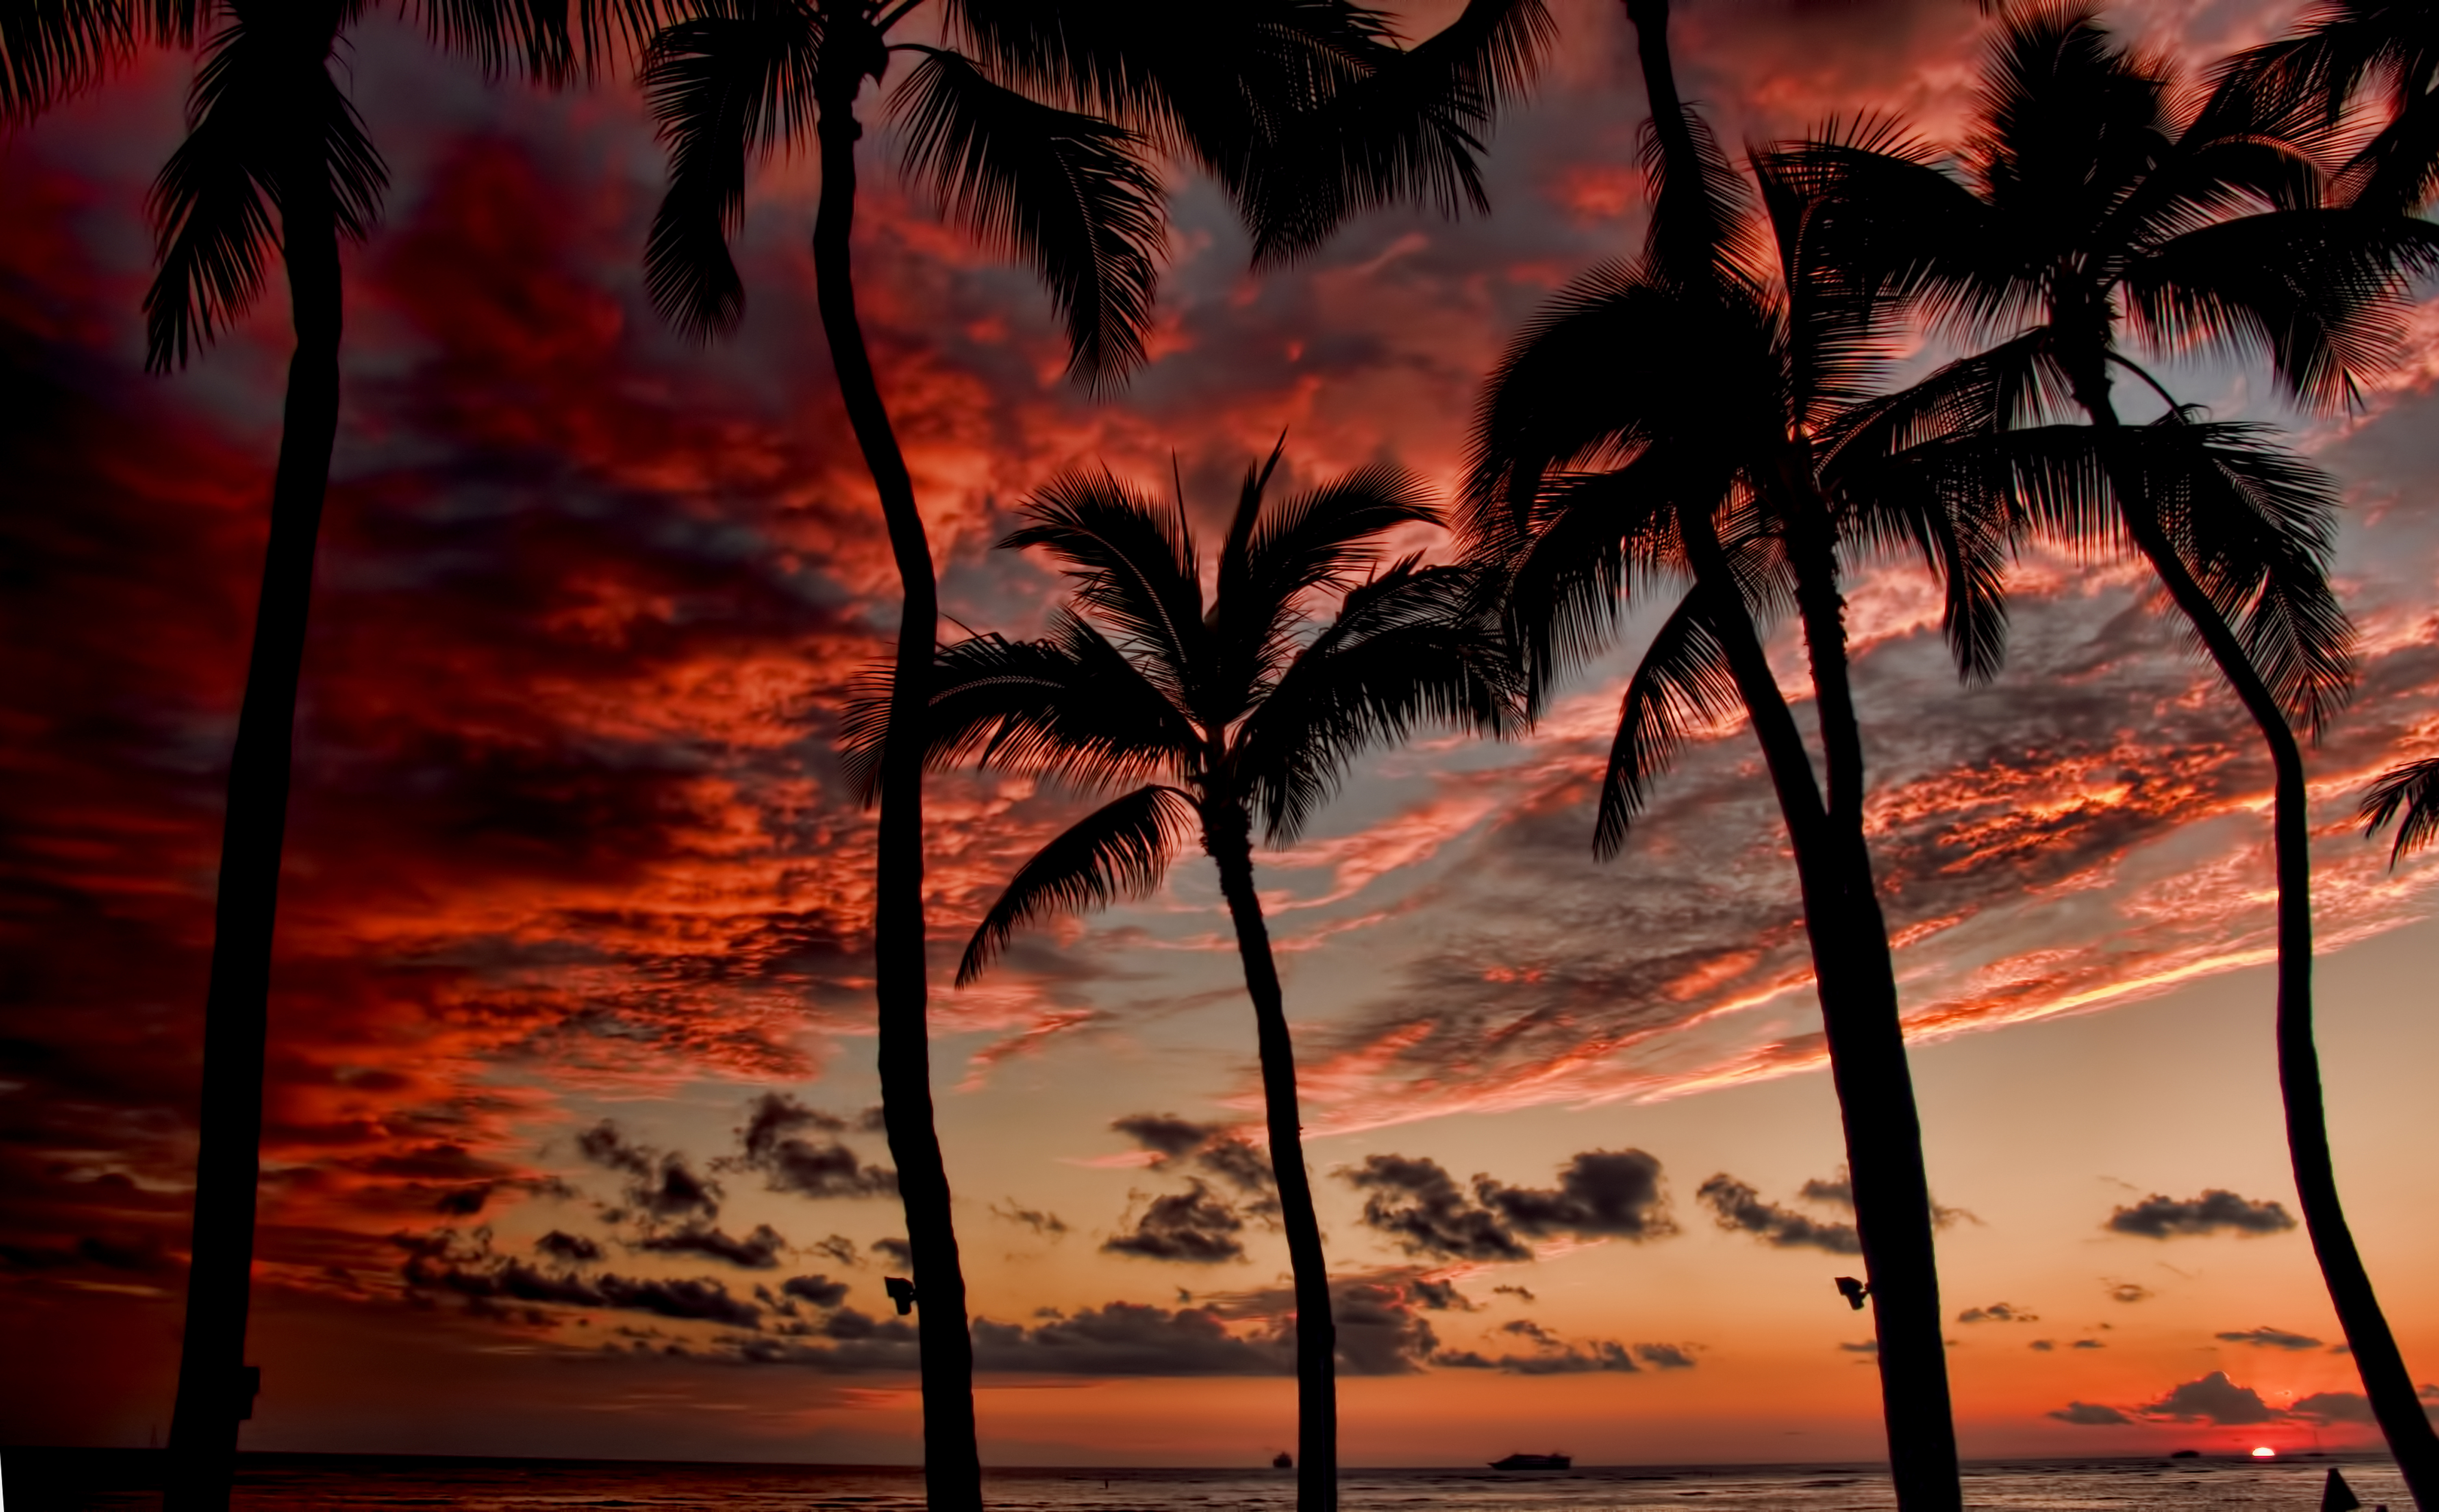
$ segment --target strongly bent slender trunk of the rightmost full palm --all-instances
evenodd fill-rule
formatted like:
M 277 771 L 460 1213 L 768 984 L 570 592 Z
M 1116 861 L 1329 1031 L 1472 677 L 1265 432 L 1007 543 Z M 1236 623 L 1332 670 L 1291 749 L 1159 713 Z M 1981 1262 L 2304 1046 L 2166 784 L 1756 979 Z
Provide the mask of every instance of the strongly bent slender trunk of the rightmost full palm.
M 2080 363 L 2076 402 L 2102 434 L 2122 429 L 2110 398 L 2102 361 Z M 2439 1512 L 2439 1434 L 2415 1395 L 2405 1353 L 2388 1329 L 2371 1273 L 2346 1227 L 2346 1207 L 2337 1197 L 2337 1163 L 2329 1154 L 2329 1110 L 2319 1088 L 2319 1046 L 2312 1041 L 2312 819 L 2302 780 L 2302 746 L 2285 722 L 2285 710 L 2261 680 L 2244 644 L 2229 629 L 2202 585 L 2195 583 L 2176 544 L 2151 512 L 2149 495 L 2115 449 L 2107 451 L 2110 490 L 2134 546 L 2151 563 L 2168 600 L 2202 637 L 2219 676 L 2254 717 L 2261 744 L 2271 751 L 2271 836 L 2278 873 L 2278 1095 L 2285 1102 L 2288 1161 L 2295 1168 L 2295 1197 L 2302 1205 L 2312 1253 L 2346 1329 L 2354 1368 L 2363 1378 L 2371 1414 L 2388 1436 L 2388 1451 L 2405 1473 L 2415 1505 Z

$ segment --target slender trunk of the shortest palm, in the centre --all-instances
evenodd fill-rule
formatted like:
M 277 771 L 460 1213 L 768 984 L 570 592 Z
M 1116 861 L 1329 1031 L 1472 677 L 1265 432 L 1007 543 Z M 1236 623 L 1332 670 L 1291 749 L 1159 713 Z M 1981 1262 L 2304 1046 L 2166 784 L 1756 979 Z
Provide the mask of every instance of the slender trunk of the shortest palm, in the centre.
M 1271 929 L 1254 893 L 1254 827 L 1244 807 L 1227 800 L 1202 805 L 1202 846 L 1220 866 L 1220 895 L 1237 924 L 1244 990 L 1254 1000 L 1271 1173 L 1278 1178 L 1278 1217 L 1288 1227 L 1288 1266 L 1295 1273 L 1295 1512 L 1337 1512 L 1339 1329 L 1329 1317 L 1329 1261 L 1322 1256 L 1322 1224 L 1312 1214 L 1312 1175 L 1305 1171 L 1288 1002 L 1278 990 Z

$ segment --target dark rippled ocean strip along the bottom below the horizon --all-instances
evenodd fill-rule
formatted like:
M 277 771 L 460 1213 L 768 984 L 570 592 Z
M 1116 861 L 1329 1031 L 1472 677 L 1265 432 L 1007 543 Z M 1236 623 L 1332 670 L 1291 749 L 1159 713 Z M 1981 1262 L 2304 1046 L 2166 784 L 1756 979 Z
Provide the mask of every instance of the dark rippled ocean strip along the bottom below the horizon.
M 2010 1512 L 2315 1512 L 2329 1466 L 2366 1507 L 2410 1512 L 2385 1456 L 2302 1456 L 2276 1463 L 2198 1458 L 1988 1461 L 1966 1468 L 1966 1507 Z M 159 1507 L 141 1456 L 0 1451 L 7 1512 Z M 1217 1512 L 1295 1507 L 1288 1471 L 993 1471 L 998 1512 Z M 1619 1466 L 1580 1471 L 1346 1471 L 1349 1512 L 1878 1512 L 1893 1507 L 1873 1466 Z M 705 1466 L 624 1461 L 478 1461 L 393 1456 L 246 1456 L 244 1512 L 910 1512 L 922 1475 L 898 1468 Z

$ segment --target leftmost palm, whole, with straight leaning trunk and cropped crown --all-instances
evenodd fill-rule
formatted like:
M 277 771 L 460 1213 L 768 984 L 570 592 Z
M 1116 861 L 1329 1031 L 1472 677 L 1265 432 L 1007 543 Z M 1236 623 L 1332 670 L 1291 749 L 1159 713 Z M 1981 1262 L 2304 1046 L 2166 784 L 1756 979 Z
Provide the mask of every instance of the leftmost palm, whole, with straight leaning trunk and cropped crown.
M 34 0 L 0 22 L 7 112 L 29 117 L 98 78 L 141 41 L 210 34 L 188 98 L 188 134 L 151 195 L 159 273 L 144 295 L 151 371 L 188 356 L 261 293 L 273 256 L 288 273 L 288 366 L 271 537 L 229 756 L 212 968 L 202 1024 L 195 1227 L 185 1339 L 171 1417 L 171 1507 L 229 1497 L 237 1424 L 251 1414 L 244 1368 L 254 1210 L 261 1171 L 263 1046 L 290 741 L 315 539 L 339 427 L 339 239 L 363 239 L 385 188 L 380 154 L 332 76 L 346 0 Z M 412 12 L 441 46 L 485 71 L 520 66 L 561 83 L 578 63 L 568 7 L 537 0 L 429 0 Z M 595 7 L 583 7 L 590 56 Z M 273 224 L 273 215 L 278 217 Z

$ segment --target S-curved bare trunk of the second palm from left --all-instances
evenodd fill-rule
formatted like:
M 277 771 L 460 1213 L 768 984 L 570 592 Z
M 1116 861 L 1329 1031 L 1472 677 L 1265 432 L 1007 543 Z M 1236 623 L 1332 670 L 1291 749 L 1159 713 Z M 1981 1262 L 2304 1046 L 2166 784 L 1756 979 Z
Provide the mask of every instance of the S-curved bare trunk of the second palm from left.
M 890 429 L 873 361 L 856 319 L 849 239 L 856 222 L 856 95 L 863 68 L 849 37 L 824 49 L 820 95 L 822 202 L 812 224 L 815 293 L 839 398 L 880 493 L 905 610 L 898 617 L 898 676 L 880 749 L 880 856 L 873 900 L 873 997 L 880 1017 L 880 1114 L 898 1163 L 907 1244 L 915 1251 L 915 1310 L 922 1349 L 922 1463 L 932 1512 L 978 1512 L 983 1461 L 973 1441 L 973 1336 L 966 1329 L 966 1273 L 956 1258 L 949 1168 L 932 1119 L 922 915 L 922 756 L 939 588 L 932 544 L 915 507 L 915 480 Z

